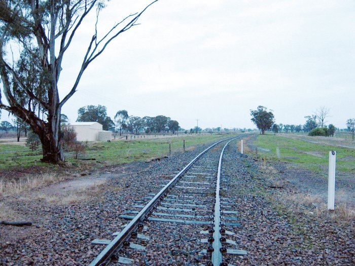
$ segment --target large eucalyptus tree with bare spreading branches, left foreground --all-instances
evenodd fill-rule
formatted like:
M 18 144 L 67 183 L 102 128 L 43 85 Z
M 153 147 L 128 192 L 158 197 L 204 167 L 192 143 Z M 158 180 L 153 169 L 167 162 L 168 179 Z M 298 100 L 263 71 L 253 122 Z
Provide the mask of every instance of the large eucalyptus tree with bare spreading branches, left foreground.
M 121 33 L 137 25 L 139 17 L 158 0 L 142 11 L 130 14 L 100 34 L 97 30 L 100 11 L 105 0 L 1 0 L 0 1 L 0 108 L 13 113 L 37 134 L 42 143 L 42 161 L 64 161 L 60 141 L 60 113 L 63 105 L 74 95 L 88 65 Z M 58 86 L 62 61 L 78 29 L 88 14 L 96 11 L 96 23 L 76 80 L 66 95 Z M 12 44 L 19 46 L 18 61 Z M 41 87 L 29 86 L 34 78 L 19 66 L 39 62 L 37 77 Z M 36 65 L 37 67 L 37 65 Z M 32 69 L 33 70 L 33 69 Z M 6 101 L 2 100 L 5 96 Z M 19 97 L 21 96 L 21 97 Z M 35 106 L 34 106 L 35 105 Z M 42 118 L 39 115 L 42 112 Z

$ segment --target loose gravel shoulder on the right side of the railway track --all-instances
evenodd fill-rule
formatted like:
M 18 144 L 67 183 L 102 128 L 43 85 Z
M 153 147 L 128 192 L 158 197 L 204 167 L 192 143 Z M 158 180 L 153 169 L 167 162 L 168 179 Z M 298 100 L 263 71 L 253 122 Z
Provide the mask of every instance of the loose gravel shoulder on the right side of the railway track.
M 228 169 L 236 173 L 233 193 L 241 203 L 236 205 L 242 223 L 237 242 L 248 251 L 233 258 L 234 264 L 353 265 L 353 216 L 343 217 L 340 209 L 328 213 L 262 162 L 234 161 Z

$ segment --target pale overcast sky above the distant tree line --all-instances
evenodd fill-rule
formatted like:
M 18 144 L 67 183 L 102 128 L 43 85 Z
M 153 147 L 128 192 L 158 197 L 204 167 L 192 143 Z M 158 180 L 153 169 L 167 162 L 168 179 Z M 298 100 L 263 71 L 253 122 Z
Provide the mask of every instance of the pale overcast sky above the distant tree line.
M 103 33 L 149 1 L 113 0 Z M 160 0 L 85 71 L 62 113 L 84 105 L 133 116 L 165 115 L 196 126 L 255 128 L 250 109 L 304 124 L 320 106 L 328 123 L 355 117 L 355 1 Z M 93 34 L 88 17 L 66 53 L 60 96 L 69 91 Z M 101 33 L 101 34 L 102 34 Z M 2 120 L 7 120 L 3 111 Z

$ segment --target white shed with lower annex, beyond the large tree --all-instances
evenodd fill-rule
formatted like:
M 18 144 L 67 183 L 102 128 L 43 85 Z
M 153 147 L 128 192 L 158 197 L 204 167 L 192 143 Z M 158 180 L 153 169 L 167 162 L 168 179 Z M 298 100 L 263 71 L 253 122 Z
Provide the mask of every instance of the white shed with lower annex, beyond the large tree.
M 112 132 L 102 130 L 102 125 L 97 122 L 74 122 L 67 127 L 77 132 L 78 141 L 108 141 L 112 138 Z

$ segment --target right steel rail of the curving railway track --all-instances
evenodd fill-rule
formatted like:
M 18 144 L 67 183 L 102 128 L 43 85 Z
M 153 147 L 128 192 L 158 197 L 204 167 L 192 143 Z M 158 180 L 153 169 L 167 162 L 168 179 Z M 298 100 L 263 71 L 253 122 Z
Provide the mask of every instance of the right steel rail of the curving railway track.
M 218 163 L 218 173 L 217 173 L 217 185 L 216 185 L 216 203 L 215 203 L 215 220 L 214 220 L 214 233 L 213 238 L 214 242 L 212 244 L 213 251 L 211 255 L 211 261 L 214 266 L 222 265 L 222 243 L 221 243 L 221 197 L 220 197 L 220 182 L 221 182 L 221 168 L 222 168 L 222 157 L 224 153 L 224 149 L 227 145 L 233 141 L 234 139 L 227 142 L 227 144 L 223 147 L 220 161 Z

